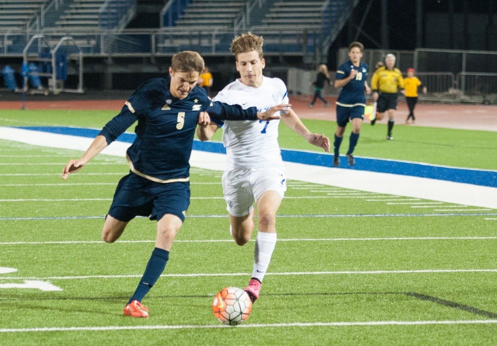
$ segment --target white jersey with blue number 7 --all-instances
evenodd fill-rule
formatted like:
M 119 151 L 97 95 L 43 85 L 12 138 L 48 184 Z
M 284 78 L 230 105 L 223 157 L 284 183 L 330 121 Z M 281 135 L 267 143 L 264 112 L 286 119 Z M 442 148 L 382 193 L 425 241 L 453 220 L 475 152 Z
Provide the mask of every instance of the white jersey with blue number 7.
M 279 78 L 263 77 L 258 88 L 243 84 L 239 79 L 228 84 L 214 101 L 241 105 L 244 109 L 257 107 L 258 112 L 288 103 L 285 83 Z M 227 169 L 283 166 L 278 144 L 279 120 L 225 120 L 216 123 L 223 129 L 223 144 L 227 153 Z

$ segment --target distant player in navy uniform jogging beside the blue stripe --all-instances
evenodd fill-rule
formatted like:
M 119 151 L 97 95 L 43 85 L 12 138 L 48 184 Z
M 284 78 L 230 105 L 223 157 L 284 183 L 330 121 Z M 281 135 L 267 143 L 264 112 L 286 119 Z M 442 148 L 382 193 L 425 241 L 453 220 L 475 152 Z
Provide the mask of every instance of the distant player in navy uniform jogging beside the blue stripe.
M 347 151 L 347 161 L 350 166 L 355 165 L 352 153 L 361 131 L 361 124 L 366 106 L 366 93 L 371 93 L 368 86 L 368 65 L 361 62 L 364 46 L 360 42 L 352 42 L 348 46 L 349 61 L 341 64 L 336 70 L 335 88 L 342 88 L 336 100 L 336 131 L 333 143 L 333 166 L 340 166 L 339 149 L 348 121 L 352 122 Z

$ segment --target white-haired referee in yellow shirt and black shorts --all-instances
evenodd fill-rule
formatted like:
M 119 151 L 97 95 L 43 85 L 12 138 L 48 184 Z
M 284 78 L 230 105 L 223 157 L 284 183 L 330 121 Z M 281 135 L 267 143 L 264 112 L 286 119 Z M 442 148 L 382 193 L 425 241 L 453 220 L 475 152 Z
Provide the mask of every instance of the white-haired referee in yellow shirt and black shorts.
M 388 132 L 387 139 L 393 140 L 392 129 L 394 128 L 394 111 L 397 109 L 397 98 L 399 91 L 405 95 L 404 79 L 402 72 L 395 67 L 395 56 L 387 54 L 385 66 L 378 68 L 373 77 L 371 77 L 371 89 L 373 90 L 373 99 L 377 102 L 376 117 L 371 120 L 374 125 L 376 120 L 383 119 L 383 115 L 388 115 Z

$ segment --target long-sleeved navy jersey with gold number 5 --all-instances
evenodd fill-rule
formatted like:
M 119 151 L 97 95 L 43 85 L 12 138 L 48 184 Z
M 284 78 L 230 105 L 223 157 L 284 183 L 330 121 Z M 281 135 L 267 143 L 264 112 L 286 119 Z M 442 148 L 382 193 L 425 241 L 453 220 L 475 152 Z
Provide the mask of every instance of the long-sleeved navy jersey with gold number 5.
M 140 85 L 99 133 L 110 144 L 138 120 L 136 139 L 126 152 L 130 168 L 159 182 L 188 180 L 188 161 L 200 112 L 206 111 L 216 119 L 257 119 L 255 107 L 243 110 L 238 105 L 212 102 L 198 86 L 186 98 L 176 99 L 169 85 L 170 76 Z

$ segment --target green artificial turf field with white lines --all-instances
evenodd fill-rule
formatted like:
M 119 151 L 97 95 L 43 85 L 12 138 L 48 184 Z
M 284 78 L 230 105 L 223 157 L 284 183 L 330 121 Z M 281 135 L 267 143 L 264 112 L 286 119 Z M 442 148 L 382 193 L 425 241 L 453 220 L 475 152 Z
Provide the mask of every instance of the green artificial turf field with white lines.
M 2 111 L 0 125 L 100 128 L 112 115 Z M 388 142 L 384 128 L 366 125 L 357 156 L 496 169 L 495 132 L 398 126 Z M 301 142 L 282 125 L 282 147 L 312 150 Z M 17 270 L 0 274 L 0 345 L 497 343 L 497 210 L 297 180 L 278 213 L 260 299 L 246 323 L 224 327 L 213 295 L 247 284 L 253 241 L 230 239 L 221 172 L 196 168 L 188 217 L 144 299 L 151 317 L 123 317 L 155 222 L 133 220 L 119 241 L 103 243 L 103 217 L 128 167 L 99 155 L 62 181 L 79 156 L 0 140 L 0 268 Z

